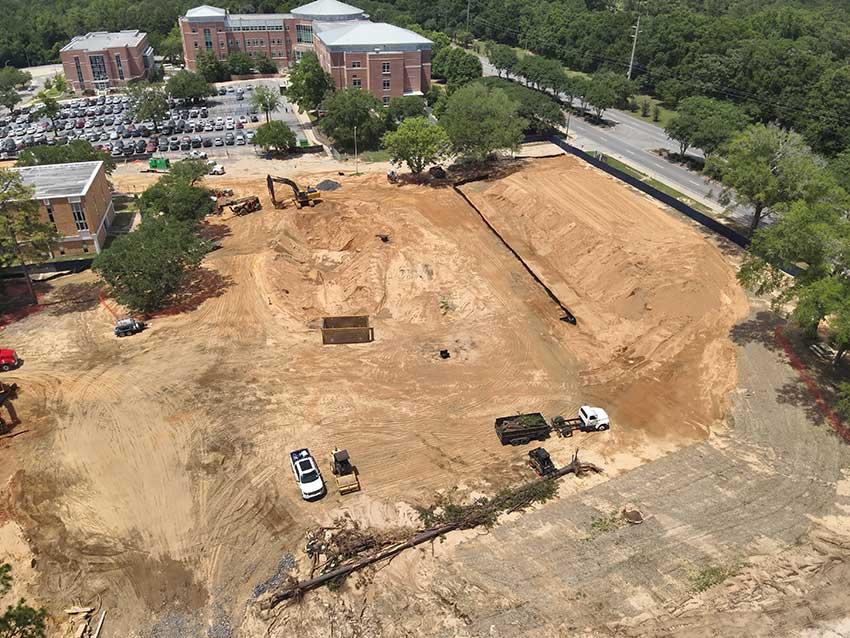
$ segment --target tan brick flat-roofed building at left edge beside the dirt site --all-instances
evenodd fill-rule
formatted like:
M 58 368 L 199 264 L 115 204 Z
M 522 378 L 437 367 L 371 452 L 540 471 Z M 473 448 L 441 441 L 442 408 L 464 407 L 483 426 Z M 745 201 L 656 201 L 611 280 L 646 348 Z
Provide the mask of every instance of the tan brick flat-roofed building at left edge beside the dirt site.
M 52 223 L 60 255 L 99 253 L 115 217 L 103 162 L 45 164 L 11 170 L 33 188 L 41 220 Z

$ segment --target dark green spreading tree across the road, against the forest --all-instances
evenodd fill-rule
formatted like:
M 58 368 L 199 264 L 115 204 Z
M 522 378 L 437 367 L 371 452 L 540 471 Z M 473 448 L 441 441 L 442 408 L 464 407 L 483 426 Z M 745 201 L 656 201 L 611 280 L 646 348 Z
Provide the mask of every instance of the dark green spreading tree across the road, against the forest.
M 734 104 L 708 97 L 689 97 L 679 103 L 678 113 L 664 130 L 671 140 L 678 142 L 680 155 L 696 146 L 709 157 L 748 123 L 749 118 Z

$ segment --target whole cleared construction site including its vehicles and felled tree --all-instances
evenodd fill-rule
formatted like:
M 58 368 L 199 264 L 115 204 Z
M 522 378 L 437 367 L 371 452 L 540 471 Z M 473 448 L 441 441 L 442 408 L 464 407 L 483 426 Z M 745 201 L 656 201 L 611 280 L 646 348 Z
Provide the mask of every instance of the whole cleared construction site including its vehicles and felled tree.
M 196 294 L 116 339 L 83 272 L 0 330 L 0 556 L 50 635 L 850 627 L 850 453 L 741 249 L 566 155 L 204 182 Z

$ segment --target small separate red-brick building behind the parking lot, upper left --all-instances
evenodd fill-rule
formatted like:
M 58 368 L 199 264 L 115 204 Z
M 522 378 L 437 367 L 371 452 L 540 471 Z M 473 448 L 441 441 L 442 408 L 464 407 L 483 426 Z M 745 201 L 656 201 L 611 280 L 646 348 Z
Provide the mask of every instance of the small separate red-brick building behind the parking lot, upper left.
M 145 77 L 154 67 L 148 36 L 136 30 L 79 35 L 62 47 L 59 56 L 75 91 L 123 86 Z

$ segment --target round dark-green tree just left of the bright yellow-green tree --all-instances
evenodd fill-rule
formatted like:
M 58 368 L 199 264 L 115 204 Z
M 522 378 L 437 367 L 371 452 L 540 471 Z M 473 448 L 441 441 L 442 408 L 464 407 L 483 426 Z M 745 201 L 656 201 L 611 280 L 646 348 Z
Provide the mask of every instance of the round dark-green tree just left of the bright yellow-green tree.
M 319 122 L 319 128 L 339 147 L 354 149 L 355 128 L 359 149 L 378 145 L 384 133 L 383 105 L 371 93 L 345 88 L 331 94 L 322 102 L 322 108 L 327 115 Z

